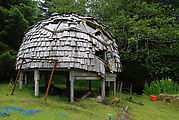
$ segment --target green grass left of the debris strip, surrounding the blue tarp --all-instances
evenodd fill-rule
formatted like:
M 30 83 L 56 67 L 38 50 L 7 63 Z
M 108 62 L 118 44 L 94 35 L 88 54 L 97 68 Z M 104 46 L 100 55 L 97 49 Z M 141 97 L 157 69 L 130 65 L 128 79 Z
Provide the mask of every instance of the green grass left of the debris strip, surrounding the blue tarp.
M 69 103 L 64 98 L 48 97 L 44 101 L 41 98 L 34 98 L 33 90 L 16 90 L 13 96 L 7 84 L 0 84 L 0 104 L 12 105 L 23 109 L 43 110 L 42 113 L 34 115 L 21 115 L 14 113 L 8 117 L 0 116 L 0 120 L 104 120 L 108 113 L 116 114 L 116 108 L 109 105 L 96 103 L 90 98 L 80 102 Z M 65 114 L 61 115 L 61 114 Z

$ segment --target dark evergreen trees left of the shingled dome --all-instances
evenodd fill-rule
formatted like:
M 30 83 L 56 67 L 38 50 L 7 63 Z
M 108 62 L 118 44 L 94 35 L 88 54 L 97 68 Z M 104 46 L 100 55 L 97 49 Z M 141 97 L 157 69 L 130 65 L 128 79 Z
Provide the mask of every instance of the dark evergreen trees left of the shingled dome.
M 38 2 L 32 0 L 0 1 L 0 79 L 14 73 L 15 55 L 27 28 L 40 19 Z

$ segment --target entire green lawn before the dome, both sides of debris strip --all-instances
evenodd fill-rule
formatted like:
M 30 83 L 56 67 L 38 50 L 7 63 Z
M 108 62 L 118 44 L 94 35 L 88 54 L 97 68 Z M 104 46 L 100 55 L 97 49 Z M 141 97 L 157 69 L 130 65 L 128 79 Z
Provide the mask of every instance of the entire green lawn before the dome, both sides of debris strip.
M 87 98 L 80 102 L 69 103 L 65 98 L 48 97 L 44 101 L 44 94 L 40 98 L 34 98 L 33 90 L 25 88 L 16 90 L 11 96 L 11 87 L 8 84 L 0 84 L 0 105 L 12 105 L 23 109 L 37 109 L 44 112 L 34 115 L 23 115 L 18 112 L 10 116 L 0 116 L 0 120 L 105 120 L 108 114 L 117 115 L 118 107 L 104 105 Z M 148 96 L 132 95 L 134 101 L 140 101 L 144 106 L 126 101 L 128 94 L 118 95 L 119 106 L 128 105 L 130 118 L 134 120 L 178 120 L 179 102 L 165 103 L 162 101 L 151 102 Z M 0 112 L 3 112 L 0 109 Z

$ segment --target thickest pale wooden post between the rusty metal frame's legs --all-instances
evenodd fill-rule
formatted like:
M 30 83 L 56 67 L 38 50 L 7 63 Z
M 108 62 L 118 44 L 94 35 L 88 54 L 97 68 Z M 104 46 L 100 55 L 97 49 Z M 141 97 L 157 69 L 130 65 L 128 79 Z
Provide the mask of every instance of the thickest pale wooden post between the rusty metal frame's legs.
M 40 80 L 40 74 L 38 70 L 34 71 L 34 81 L 35 81 L 35 97 L 39 97 L 39 80 Z

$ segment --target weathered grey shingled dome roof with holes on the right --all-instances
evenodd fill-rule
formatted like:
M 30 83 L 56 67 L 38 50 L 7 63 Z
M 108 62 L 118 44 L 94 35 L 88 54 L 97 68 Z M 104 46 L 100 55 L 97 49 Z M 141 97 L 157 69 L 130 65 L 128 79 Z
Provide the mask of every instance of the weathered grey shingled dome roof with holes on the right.
M 29 28 L 17 55 L 22 59 L 58 60 L 57 69 L 81 69 L 101 74 L 121 70 L 118 48 L 111 35 L 93 18 L 53 14 Z M 52 68 L 49 61 L 27 59 L 22 69 Z

